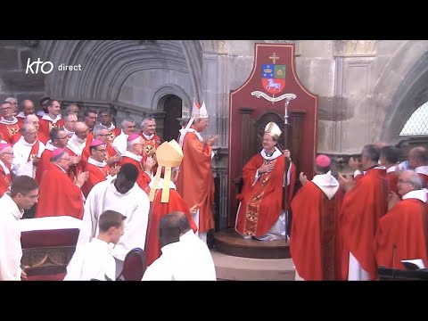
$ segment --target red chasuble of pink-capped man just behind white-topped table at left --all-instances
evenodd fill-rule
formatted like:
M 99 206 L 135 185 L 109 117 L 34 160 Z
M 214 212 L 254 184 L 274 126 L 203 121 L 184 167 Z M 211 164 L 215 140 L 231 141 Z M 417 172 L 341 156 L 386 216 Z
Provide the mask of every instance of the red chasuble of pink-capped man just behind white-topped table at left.
M 70 216 L 83 218 L 83 195 L 70 177 L 53 163 L 42 177 L 36 218 Z

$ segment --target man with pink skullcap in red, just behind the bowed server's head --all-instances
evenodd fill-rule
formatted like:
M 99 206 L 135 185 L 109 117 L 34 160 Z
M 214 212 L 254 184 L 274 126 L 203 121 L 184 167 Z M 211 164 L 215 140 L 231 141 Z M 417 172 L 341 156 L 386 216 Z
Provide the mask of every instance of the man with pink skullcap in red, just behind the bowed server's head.
M 145 192 L 150 192 L 149 183 L 152 180 L 151 172 L 152 167 L 155 163 L 152 156 L 148 157 L 146 161 L 143 161 L 141 153 L 143 152 L 143 138 L 136 134 L 131 134 L 127 139 L 127 150 L 122 154 L 120 166 L 124 164 L 133 164 L 138 169 L 138 178 L 136 184 Z

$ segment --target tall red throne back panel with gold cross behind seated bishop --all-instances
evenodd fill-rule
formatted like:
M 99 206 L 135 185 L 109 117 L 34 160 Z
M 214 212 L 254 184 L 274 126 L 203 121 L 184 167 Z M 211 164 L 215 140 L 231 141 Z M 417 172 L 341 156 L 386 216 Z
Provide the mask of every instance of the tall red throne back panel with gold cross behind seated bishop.
M 275 57 L 275 59 L 274 59 Z M 275 60 L 275 62 L 274 62 Z M 267 92 L 262 78 L 263 65 L 285 65 L 284 87 L 275 93 Z M 264 72 L 264 71 L 263 71 Z M 252 95 L 256 92 L 263 95 Z M 228 184 L 228 219 L 230 227 L 235 226 L 235 215 L 238 202 L 236 201 L 236 180 L 240 177 L 244 165 L 251 156 L 261 148 L 260 131 L 271 117 L 272 121 L 284 129 L 285 101 L 275 101 L 284 94 L 295 95 L 296 98 L 287 106 L 290 120 L 290 131 L 287 131 L 287 141 L 291 141 L 287 149 L 292 150 L 292 161 L 298 163 L 297 171 L 306 173 L 309 179 L 314 174 L 314 159 L 317 155 L 317 95 L 309 92 L 297 78 L 294 67 L 293 44 L 256 44 L 254 48 L 254 66 L 250 77 L 239 88 L 229 95 L 229 184 Z M 246 110 L 247 112 L 243 112 Z M 248 112 L 251 111 L 251 112 Z M 269 115 L 269 116 L 268 116 Z M 255 121 L 258 142 L 251 142 L 251 120 Z M 284 130 L 283 130 L 284 131 Z M 262 135 L 261 135 L 262 136 Z M 280 138 L 284 142 L 284 137 Z M 251 146 L 252 144 L 252 146 Z M 288 143 L 287 143 L 288 144 Z M 283 146 L 284 147 L 284 144 Z

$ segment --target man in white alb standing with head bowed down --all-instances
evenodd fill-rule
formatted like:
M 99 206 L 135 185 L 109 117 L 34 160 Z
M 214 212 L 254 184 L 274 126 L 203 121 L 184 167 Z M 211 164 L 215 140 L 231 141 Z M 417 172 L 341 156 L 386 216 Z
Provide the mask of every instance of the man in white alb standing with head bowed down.
M 116 259 L 117 273 L 120 273 L 128 251 L 136 247 L 144 250 L 150 202 L 149 196 L 136 184 L 137 177 L 136 166 L 125 164 L 119 169 L 116 179 L 95 185 L 87 195 L 78 235 L 78 247 L 96 237 L 99 218 L 104 210 L 115 210 L 125 215 L 125 232 L 111 249 L 111 255 Z

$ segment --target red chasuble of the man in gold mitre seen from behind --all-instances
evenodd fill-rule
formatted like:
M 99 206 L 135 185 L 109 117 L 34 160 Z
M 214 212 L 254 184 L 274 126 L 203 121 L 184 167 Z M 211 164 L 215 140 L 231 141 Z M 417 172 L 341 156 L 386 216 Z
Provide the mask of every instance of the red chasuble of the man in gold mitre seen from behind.
M 154 202 L 151 203 L 149 223 L 147 225 L 147 236 L 145 238 L 145 258 L 147 266 L 150 266 L 155 259 L 161 256 L 161 244 L 158 238 L 159 221 L 165 215 L 173 211 L 181 211 L 189 220 L 190 227 L 193 232 L 197 231 L 197 227 L 193 222 L 192 215 L 190 214 L 190 207 L 181 198 L 173 188 L 169 189 L 169 202 L 161 202 L 162 189 L 156 191 Z

